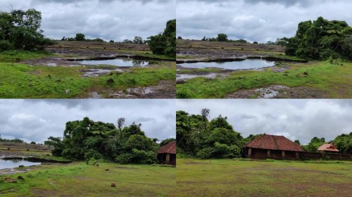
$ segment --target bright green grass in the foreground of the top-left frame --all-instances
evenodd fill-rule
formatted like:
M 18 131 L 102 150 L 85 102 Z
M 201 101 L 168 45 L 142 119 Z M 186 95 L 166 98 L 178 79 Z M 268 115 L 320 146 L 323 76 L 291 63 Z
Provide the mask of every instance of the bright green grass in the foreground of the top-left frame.
M 166 66 L 166 63 L 132 68 L 131 72 L 120 75 L 99 77 L 82 77 L 83 73 L 77 70 L 83 67 L 28 66 L 17 63 L 0 63 L 0 67 L 1 98 L 82 97 L 92 89 L 124 90 L 130 87 L 156 85 L 160 80 L 175 78 L 175 67 Z M 28 73 L 32 71 L 41 73 Z M 109 78 L 113 78 L 113 84 L 107 84 Z M 66 90 L 69 92 L 66 93 Z

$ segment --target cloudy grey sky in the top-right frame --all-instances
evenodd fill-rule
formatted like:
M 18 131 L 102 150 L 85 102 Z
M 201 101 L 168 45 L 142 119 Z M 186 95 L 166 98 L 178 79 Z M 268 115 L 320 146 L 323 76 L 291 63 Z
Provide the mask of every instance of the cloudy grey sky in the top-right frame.
M 178 0 L 177 34 L 266 43 L 294 36 L 298 23 L 323 16 L 352 25 L 350 0 Z

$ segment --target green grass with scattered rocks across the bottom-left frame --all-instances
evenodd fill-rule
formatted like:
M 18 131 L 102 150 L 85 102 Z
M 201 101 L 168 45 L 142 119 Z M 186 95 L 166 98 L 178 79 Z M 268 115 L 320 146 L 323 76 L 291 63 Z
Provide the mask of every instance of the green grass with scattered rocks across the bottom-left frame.
M 105 171 L 109 169 L 109 171 Z M 174 196 L 175 168 L 99 163 L 39 165 L 26 173 L 0 178 L 24 180 L 0 183 L 1 196 Z M 31 175 L 29 175 L 31 174 Z M 111 187 L 115 183 L 116 187 Z

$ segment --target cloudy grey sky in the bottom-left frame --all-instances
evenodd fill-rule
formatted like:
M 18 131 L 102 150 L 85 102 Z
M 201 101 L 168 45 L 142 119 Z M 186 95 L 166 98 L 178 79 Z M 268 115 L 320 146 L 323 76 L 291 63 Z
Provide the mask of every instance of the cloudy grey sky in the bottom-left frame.
M 125 117 L 126 125 L 142 124 L 149 137 L 175 137 L 175 100 L 0 100 L 0 134 L 26 142 L 62 137 L 67 121 L 88 116 L 114 123 Z

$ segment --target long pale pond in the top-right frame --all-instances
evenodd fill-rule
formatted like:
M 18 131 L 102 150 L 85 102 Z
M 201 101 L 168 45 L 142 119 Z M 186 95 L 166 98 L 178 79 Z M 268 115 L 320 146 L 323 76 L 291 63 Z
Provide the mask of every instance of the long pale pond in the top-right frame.
M 197 62 L 197 63 L 183 63 L 180 64 L 185 68 L 222 68 L 227 70 L 247 70 L 259 69 L 264 67 L 274 66 L 275 62 L 266 60 L 244 60 L 235 62 Z

